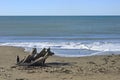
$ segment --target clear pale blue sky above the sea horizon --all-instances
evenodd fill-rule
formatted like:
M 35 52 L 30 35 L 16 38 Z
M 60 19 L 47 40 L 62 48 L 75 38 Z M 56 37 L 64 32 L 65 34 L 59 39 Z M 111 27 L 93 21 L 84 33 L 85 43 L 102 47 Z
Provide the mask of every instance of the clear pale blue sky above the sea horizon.
M 120 15 L 120 0 L 0 0 L 0 15 Z

